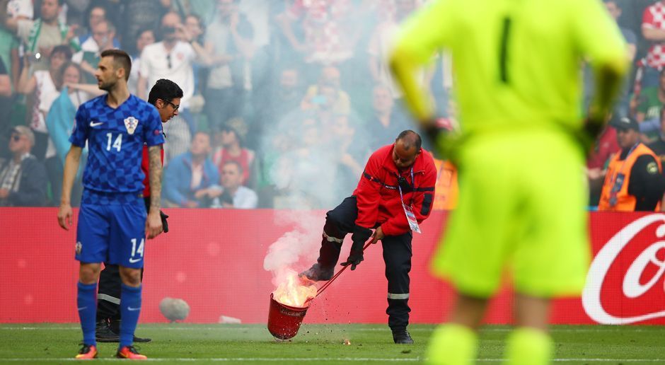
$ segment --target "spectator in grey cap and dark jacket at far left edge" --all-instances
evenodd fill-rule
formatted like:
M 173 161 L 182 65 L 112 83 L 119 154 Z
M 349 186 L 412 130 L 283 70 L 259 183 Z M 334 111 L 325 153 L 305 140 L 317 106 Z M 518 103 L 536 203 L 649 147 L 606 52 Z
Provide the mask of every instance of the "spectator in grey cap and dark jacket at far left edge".
M 0 160 L 0 206 L 40 207 L 46 204 L 46 170 L 30 149 L 35 136 L 23 125 L 14 127 L 9 139 L 12 158 Z

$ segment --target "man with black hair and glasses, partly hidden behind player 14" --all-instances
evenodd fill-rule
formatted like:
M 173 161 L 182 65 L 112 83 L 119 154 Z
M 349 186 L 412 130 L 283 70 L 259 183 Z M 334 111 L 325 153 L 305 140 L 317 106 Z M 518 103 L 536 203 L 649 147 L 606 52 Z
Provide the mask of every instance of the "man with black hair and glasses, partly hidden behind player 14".
M 180 107 L 180 98 L 183 97 L 183 90 L 178 84 L 167 79 L 159 79 L 151 88 L 148 96 L 148 103 L 155 105 L 159 112 L 162 123 L 168 122 L 172 117 L 178 115 Z M 161 152 L 162 163 L 164 160 L 163 150 Z M 150 182 L 149 182 L 149 160 L 148 146 L 143 146 L 143 159 L 141 161 L 141 170 L 146 178 L 143 181 L 145 186 L 143 197 L 146 203 L 146 209 L 150 208 Z M 168 232 L 168 216 L 160 212 L 164 233 Z M 105 265 L 104 270 L 99 276 L 99 289 L 97 294 L 97 325 L 95 335 L 98 342 L 118 342 L 120 341 L 120 273 L 118 265 Z M 141 271 L 141 279 L 143 272 Z M 150 342 L 150 338 L 141 338 L 134 336 L 134 342 Z

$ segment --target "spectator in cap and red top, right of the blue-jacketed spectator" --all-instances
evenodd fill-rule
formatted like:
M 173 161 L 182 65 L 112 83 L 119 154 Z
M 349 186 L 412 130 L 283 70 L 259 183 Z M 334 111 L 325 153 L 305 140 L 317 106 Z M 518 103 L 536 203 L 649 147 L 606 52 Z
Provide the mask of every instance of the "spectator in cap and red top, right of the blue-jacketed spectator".
M 219 146 L 214 151 L 212 161 L 221 173 L 227 161 L 236 161 L 243 172 L 243 183 L 253 179 L 254 151 L 243 147 L 243 137 L 247 134 L 247 126 L 241 118 L 227 120 L 219 129 L 215 138 L 219 138 Z

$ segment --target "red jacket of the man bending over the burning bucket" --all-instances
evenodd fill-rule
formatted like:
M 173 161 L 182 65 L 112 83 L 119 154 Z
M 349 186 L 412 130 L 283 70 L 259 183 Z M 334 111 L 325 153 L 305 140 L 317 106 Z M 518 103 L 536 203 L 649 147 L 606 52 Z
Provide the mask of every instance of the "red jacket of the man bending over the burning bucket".
M 378 223 L 386 236 L 398 236 L 410 231 L 398 189 L 399 171 L 393 162 L 394 146 L 389 144 L 372 153 L 358 187 L 353 192 L 358 201 L 356 224 L 374 228 Z M 413 182 L 411 168 L 405 169 L 400 175 L 415 187 L 413 192 L 403 191 L 403 195 L 405 204 L 411 205 L 420 224 L 432 212 L 436 168 L 432 156 L 424 149 L 416 157 L 412 168 Z

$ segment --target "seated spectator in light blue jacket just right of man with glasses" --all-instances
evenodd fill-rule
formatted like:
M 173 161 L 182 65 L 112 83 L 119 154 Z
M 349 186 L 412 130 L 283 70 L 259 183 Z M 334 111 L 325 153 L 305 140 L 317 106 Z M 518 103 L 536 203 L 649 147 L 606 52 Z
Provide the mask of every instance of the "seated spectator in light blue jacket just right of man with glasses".
M 209 157 L 210 136 L 197 132 L 189 152 L 175 156 L 165 168 L 165 206 L 183 208 L 209 207 L 212 197 L 208 187 L 219 182 L 219 172 Z

